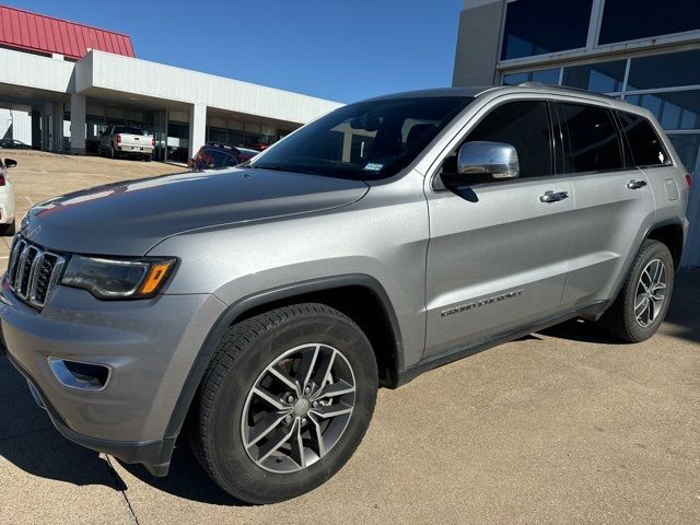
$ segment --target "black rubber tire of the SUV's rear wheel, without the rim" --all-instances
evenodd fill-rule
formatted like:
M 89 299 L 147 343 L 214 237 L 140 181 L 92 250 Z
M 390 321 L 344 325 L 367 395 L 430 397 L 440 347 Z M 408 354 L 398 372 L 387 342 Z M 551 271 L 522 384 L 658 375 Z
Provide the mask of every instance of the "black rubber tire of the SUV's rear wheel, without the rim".
M 660 260 L 664 266 L 666 275 L 665 294 L 653 320 L 646 326 L 642 326 L 637 320 L 634 308 L 640 298 L 638 295 L 638 285 L 645 268 L 654 260 Z M 641 342 L 652 337 L 658 330 L 668 311 L 674 288 L 674 259 L 666 245 L 658 241 L 644 241 L 637 257 L 634 257 L 620 293 L 600 317 L 598 322 L 600 326 L 625 342 Z

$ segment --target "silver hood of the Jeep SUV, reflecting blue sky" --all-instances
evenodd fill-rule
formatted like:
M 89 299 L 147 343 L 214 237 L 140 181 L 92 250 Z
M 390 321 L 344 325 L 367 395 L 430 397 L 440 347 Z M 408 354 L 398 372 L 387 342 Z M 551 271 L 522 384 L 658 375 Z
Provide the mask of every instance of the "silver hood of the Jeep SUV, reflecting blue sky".
M 141 256 L 189 230 L 346 206 L 360 180 L 267 170 L 183 173 L 77 191 L 33 207 L 21 233 L 61 252 Z

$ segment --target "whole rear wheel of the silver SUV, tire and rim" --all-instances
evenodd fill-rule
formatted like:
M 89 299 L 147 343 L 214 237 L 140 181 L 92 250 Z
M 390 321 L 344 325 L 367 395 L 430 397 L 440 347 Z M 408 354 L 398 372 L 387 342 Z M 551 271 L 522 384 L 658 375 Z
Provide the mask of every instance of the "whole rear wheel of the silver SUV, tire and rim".
M 674 287 L 674 260 L 658 241 L 642 244 L 622 290 L 600 324 L 627 342 L 649 339 L 664 320 Z

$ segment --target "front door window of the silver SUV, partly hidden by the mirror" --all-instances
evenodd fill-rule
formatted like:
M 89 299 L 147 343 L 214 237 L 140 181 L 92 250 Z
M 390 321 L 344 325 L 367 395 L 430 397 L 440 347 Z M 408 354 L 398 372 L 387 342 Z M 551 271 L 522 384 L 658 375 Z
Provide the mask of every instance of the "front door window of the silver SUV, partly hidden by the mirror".
M 503 142 L 515 148 L 521 178 L 552 174 L 549 110 L 544 101 L 509 102 L 495 107 L 463 144 L 472 141 Z M 457 171 L 456 153 L 445 160 L 443 170 Z

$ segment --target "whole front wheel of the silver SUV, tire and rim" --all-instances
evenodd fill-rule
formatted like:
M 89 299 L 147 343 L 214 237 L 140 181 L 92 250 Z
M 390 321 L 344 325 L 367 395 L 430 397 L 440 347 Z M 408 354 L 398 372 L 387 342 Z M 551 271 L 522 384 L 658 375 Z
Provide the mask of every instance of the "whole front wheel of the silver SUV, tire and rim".
M 229 328 L 192 421 L 195 455 L 233 497 L 273 503 L 336 474 L 370 424 L 377 368 L 362 330 L 322 304 Z

